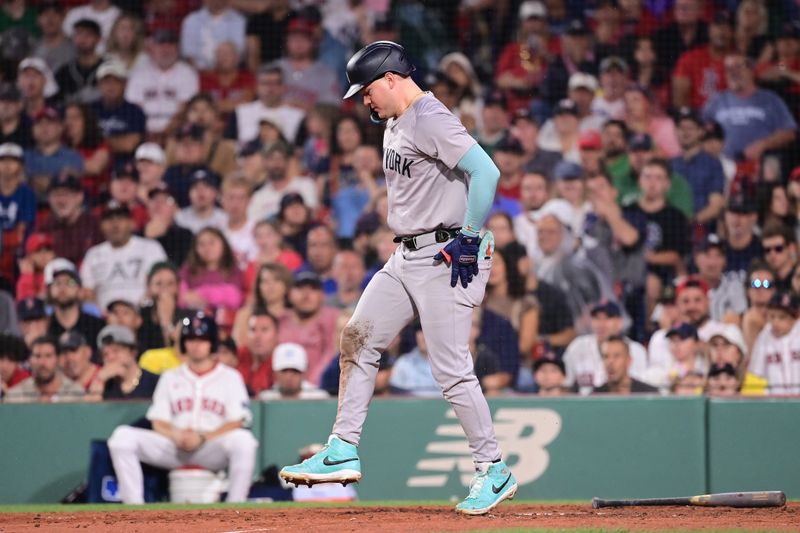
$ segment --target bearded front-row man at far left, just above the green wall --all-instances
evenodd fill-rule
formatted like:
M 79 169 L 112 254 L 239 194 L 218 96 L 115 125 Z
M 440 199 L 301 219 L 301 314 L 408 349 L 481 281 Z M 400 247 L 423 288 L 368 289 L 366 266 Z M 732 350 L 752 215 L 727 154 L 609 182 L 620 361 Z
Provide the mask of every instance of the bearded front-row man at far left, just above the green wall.
M 6 403 L 83 401 L 83 388 L 58 369 L 55 339 L 46 336 L 34 339 L 28 365 L 31 377 L 8 390 Z

